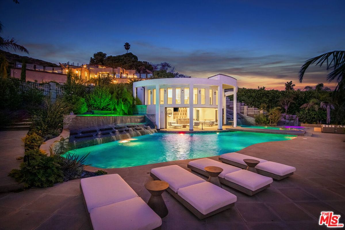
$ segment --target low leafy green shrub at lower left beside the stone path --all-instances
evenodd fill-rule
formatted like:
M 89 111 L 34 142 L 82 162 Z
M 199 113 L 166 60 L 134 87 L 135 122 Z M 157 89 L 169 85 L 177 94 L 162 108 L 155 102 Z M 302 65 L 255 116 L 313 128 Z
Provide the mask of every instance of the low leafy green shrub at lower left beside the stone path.
M 54 156 L 48 157 L 39 149 L 25 153 L 28 157 L 22 162 L 19 169 L 12 169 L 9 173 L 17 182 L 24 183 L 25 188 L 49 187 L 57 182 L 62 182 L 61 160 Z

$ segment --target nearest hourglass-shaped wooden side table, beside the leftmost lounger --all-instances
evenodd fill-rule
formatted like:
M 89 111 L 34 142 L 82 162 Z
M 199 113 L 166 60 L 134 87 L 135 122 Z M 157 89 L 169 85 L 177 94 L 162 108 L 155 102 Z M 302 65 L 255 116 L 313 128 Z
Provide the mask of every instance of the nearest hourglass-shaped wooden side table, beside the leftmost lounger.
M 162 193 L 169 188 L 169 184 L 162 180 L 154 180 L 147 182 L 145 188 L 151 193 L 151 197 L 147 202 L 148 206 L 154 210 L 160 218 L 167 216 L 168 209 L 162 198 Z

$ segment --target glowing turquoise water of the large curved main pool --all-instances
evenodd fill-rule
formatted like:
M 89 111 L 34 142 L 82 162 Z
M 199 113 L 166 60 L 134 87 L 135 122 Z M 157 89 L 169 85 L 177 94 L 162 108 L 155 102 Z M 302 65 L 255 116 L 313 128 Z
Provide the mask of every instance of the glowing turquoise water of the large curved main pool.
M 202 134 L 154 133 L 73 150 L 90 152 L 88 163 L 98 168 L 124 168 L 166 161 L 217 156 L 252 144 L 291 140 L 296 136 L 252 132 Z

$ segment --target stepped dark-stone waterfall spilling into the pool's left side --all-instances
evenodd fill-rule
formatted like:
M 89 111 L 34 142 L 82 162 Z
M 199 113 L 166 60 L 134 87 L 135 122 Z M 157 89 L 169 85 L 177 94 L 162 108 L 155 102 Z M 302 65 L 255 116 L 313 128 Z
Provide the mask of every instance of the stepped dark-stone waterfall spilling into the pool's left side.
M 145 122 L 144 116 L 76 118 L 69 125 L 69 142 L 73 143 L 72 146 L 75 149 L 157 132 Z

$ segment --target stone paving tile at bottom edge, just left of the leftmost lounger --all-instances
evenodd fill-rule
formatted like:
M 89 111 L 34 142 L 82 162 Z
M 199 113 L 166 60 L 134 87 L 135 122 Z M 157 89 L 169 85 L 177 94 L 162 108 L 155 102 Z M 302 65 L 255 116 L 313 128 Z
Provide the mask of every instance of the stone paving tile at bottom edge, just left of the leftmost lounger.
M 87 217 L 84 216 L 70 216 L 55 213 L 47 220 L 42 222 L 35 230 L 61 230 L 61 229 L 80 229 Z

